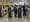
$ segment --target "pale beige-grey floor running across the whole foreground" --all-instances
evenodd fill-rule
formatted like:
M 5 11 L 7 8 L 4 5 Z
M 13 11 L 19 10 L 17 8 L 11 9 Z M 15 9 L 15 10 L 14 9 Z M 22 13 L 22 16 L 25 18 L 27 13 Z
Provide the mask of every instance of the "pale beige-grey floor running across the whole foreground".
M 8 18 L 8 15 L 0 18 L 0 22 L 30 22 L 30 18 L 23 17 L 23 18 L 18 18 L 18 17 L 12 17 Z

